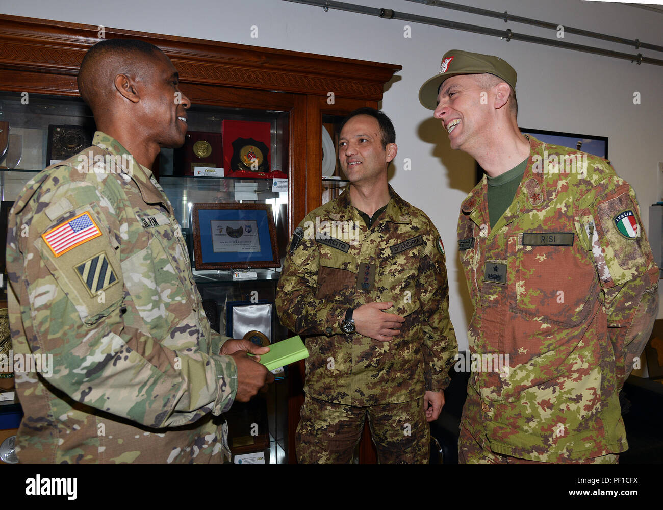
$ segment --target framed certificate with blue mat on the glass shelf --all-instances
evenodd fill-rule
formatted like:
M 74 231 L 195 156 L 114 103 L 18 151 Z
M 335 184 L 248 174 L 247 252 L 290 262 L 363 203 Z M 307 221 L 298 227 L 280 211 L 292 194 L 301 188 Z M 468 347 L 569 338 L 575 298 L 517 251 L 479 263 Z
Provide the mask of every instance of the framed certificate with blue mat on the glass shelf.
M 193 204 L 196 269 L 280 267 L 272 206 Z

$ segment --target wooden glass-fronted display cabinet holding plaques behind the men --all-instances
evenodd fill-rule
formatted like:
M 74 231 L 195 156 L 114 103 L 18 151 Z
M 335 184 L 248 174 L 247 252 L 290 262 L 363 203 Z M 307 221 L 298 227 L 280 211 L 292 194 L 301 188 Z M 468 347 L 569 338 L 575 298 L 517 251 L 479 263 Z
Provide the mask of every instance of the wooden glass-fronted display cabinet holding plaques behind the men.
M 400 66 L 105 27 L 105 38 L 113 37 L 161 48 L 192 103 L 184 149 L 163 149 L 152 172 L 187 238 L 210 323 L 228 332 L 229 309 L 274 303 L 294 227 L 347 184 L 337 168 L 338 121 L 357 107 L 377 107 L 385 83 Z M 0 93 L 0 193 L 5 212 L 36 172 L 90 143 L 94 121 L 78 96 L 76 74 L 85 52 L 98 41 L 98 29 L 91 25 L 0 18 L 0 91 L 5 91 Z M 256 128 L 248 135 L 238 131 L 246 123 Z M 195 269 L 195 204 L 267 206 L 279 254 L 274 267 Z M 274 341 L 290 336 L 273 306 L 271 331 Z M 229 422 L 235 423 L 231 441 L 236 438 L 237 444 L 231 447 L 236 452 L 258 448 L 268 462 L 295 462 L 304 363 L 288 369 L 270 385 L 264 405 L 233 405 L 237 416 Z

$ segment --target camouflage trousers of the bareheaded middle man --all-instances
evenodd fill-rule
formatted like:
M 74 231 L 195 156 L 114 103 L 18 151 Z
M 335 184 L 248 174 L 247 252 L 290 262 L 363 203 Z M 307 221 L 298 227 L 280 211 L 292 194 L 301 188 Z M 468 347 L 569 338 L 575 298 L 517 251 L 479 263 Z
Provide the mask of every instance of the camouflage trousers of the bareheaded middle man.
M 366 416 L 380 464 L 428 464 L 424 399 L 354 407 L 306 395 L 295 435 L 300 464 L 351 464 Z

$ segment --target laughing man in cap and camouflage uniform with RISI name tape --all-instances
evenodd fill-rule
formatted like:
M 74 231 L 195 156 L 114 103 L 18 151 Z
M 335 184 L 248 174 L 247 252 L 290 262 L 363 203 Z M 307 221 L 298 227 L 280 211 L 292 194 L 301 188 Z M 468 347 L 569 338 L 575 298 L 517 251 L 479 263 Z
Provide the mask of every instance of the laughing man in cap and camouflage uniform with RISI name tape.
M 520 133 L 515 84 L 501 58 L 452 50 L 419 93 L 486 172 L 458 221 L 476 361 L 459 458 L 615 463 L 658 268 L 631 186 L 607 160 Z

